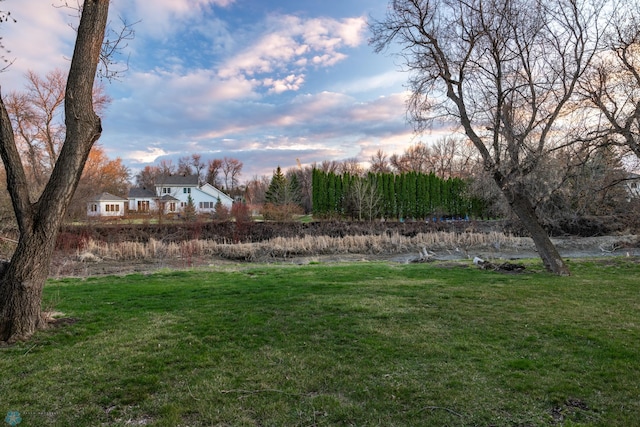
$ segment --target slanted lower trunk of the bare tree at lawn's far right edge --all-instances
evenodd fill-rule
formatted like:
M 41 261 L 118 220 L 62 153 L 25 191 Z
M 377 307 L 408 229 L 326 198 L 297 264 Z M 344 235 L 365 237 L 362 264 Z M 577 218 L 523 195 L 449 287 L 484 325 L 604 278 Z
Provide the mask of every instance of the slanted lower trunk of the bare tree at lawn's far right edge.
M 533 243 L 536 245 L 538 254 L 546 269 L 560 276 L 569 276 L 571 274 L 569 267 L 562 260 L 558 250 L 549 238 L 549 234 L 540 224 L 540 220 L 522 184 L 505 182 L 505 178 L 501 174 L 495 174 L 494 179 L 507 198 L 507 202 L 513 212 L 531 234 Z

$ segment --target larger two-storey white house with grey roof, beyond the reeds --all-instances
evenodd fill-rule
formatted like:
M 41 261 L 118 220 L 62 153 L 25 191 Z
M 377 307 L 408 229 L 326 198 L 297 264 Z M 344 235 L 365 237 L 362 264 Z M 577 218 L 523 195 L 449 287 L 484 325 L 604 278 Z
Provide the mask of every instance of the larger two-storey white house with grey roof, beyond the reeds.
M 129 191 L 129 211 L 161 209 L 164 213 L 180 213 L 189 203 L 189 197 L 197 213 L 213 213 L 218 200 L 231 208 L 231 197 L 211 184 L 198 184 L 196 175 L 170 175 L 159 178 L 153 189 L 132 188 Z

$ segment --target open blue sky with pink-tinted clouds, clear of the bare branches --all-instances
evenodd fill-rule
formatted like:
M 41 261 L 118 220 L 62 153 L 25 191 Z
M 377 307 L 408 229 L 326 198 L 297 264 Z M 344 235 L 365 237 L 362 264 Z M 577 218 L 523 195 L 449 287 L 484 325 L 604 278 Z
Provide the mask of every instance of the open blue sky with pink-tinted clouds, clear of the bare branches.
M 0 37 L 14 60 L 2 93 L 28 70 L 68 70 L 77 13 L 62 0 L 5 0 L 17 23 Z M 73 3 L 73 1 L 72 1 Z M 369 45 L 388 0 L 112 0 L 110 22 L 134 23 L 106 83 L 99 143 L 133 174 L 198 153 L 243 162 L 241 181 L 283 169 L 402 153 L 414 135 L 406 73 Z M 55 7 L 58 6 L 58 7 Z

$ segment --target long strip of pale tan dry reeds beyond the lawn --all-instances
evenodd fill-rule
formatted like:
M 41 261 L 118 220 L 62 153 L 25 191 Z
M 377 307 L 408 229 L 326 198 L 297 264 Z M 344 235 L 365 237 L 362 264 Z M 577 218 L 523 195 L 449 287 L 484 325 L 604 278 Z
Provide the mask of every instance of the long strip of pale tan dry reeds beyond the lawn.
M 231 260 L 259 261 L 269 258 L 289 258 L 313 255 L 339 254 L 403 254 L 424 250 L 457 250 L 470 248 L 531 249 L 531 239 L 503 233 L 420 233 L 402 236 L 398 233 L 380 236 L 305 236 L 302 238 L 277 237 L 258 243 L 217 243 L 211 240 L 189 240 L 180 243 L 104 243 L 89 240 L 78 251 L 77 258 L 84 262 L 109 260 L 152 260 L 163 258 L 190 258 L 218 256 Z

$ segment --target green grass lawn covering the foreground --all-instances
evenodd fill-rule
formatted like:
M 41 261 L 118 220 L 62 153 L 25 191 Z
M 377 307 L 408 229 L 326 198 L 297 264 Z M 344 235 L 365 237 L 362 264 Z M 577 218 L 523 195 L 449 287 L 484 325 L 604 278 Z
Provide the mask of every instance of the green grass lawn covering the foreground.
M 23 426 L 631 426 L 640 264 L 238 265 L 50 281 L 0 347 Z M 14 413 L 15 415 L 15 413 Z M 1 423 L 1 421 L 0 421 Z M 9 423 L 3 424 L 9 425 Z

